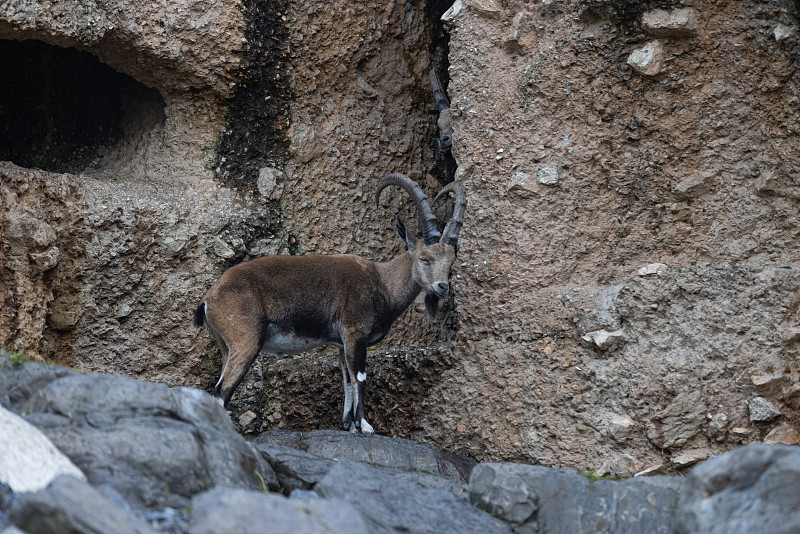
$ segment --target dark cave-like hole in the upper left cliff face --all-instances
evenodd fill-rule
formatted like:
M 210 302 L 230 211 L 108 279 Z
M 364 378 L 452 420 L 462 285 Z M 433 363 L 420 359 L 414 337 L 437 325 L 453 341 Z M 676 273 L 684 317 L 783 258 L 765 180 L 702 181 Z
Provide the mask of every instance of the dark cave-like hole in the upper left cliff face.
M 0 80 L 0 161 L 22 167 L 101 168 L 142 119 L 164 121 L 158 91 L 74 48 L 0 40 Z

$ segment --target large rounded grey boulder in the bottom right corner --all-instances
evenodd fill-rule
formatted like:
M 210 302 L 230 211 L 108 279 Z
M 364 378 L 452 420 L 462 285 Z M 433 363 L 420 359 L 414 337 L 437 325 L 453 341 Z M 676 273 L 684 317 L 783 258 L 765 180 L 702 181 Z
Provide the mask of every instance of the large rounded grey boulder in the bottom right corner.
M 762 443 L 698 465 L 678 500 L 675 532 L 800 532 L 800 448 Z

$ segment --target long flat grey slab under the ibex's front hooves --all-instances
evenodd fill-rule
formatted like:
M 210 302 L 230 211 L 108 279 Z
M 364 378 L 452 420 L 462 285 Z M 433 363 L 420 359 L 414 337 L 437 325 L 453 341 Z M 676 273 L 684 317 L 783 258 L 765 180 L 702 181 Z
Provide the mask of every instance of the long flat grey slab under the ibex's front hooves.
M 323 458 L 347 458 L 372 465 L 428 471 L 460 482 L 469 479 L 475 466 L 470 458 L 444 453 L 431 445 L 339 430 L 267 431 L 253 443 L 285 445 Z

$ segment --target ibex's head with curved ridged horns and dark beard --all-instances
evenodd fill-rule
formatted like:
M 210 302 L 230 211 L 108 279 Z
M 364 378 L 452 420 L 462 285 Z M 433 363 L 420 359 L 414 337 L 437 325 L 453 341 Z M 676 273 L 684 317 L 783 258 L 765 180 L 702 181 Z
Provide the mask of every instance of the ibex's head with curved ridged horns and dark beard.
M 396 185 L 405 190 L 414 201 L 419 214 L 422 238 L 409 235 L 400 216 L 397 216 L 397 233 L 408 246 L 411 254 L 411 277 L 425 291 L 425 307 L 431 316 L 436 315 L 439 298 L 449 291 L 450 267 L 456 259 L 456 243 L 458 233 L 464 222 L 464 211 L 467 207 L 467 195 L 460 182 L 452 182 L 445 186 L 434 199 L 434 204 L 448 193 L 456 197 L 453 215 L 444 227 L 443 234 L 436 228 L 436 216 L 428 203 L 428 197 L 419 185 L 404 174 L 390 174 L 378 184 L 375 201 L 379 202 L 384 188 Z

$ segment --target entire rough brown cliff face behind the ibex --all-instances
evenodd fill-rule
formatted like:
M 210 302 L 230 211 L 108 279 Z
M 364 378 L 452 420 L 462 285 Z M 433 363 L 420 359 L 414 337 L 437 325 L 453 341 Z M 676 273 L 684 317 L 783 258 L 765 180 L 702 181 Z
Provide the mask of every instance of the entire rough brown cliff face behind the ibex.
M 469 208 L 454 300 L 384 343 L 438 348 L 370 356 L 378 432 L 618 475 L 800 441 L 796 3 L 138 6 L 0 11 L 10 56 L 117 95 L 41 126 L 0 109 L 31 140 L 0 143 L 6 348 L 210 385 L 189 319 L 226 266 L 401 252 L 391 218 L 413 215 L 372 194 L 393 171 L 429 195 L 449 179 L 433 68 Z M 30 84 L 6 100 L 58 83 L 2 68 Z M 263 359 L 234 420 L 332 427 L 336 365 Z

